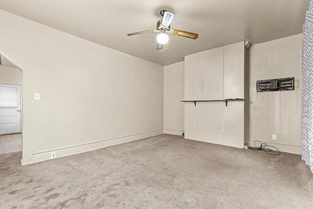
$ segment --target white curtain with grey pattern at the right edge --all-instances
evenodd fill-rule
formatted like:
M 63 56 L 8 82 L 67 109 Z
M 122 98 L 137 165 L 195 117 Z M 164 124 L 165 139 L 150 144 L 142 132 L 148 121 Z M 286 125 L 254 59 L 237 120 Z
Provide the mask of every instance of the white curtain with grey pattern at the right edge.
M 313 172 L 313 0 L 303 25 L 301 118 L 302 160 Z

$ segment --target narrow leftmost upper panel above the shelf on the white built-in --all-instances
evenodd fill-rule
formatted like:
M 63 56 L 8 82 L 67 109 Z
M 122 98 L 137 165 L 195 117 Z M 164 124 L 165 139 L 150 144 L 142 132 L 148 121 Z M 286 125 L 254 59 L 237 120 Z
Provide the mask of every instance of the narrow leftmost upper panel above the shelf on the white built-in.
M 184 100 L 198 100 L 198 54 L 185 57 L 184 87 Z

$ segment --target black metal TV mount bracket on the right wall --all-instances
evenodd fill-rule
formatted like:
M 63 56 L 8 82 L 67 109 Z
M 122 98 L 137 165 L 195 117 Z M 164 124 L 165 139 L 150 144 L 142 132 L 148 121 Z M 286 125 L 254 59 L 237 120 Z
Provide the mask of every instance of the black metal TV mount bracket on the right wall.
M 275 92 L 294 90 L 294 77 L 260 80 L 256 82 L 257 92 Z

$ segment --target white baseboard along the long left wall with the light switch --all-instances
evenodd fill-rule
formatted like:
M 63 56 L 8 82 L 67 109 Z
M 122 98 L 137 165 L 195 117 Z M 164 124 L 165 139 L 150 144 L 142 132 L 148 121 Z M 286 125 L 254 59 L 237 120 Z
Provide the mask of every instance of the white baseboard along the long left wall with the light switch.
M 62 158 L 62 157 L 75 155 L 75 154 L 79 154 L 83 152 L 88 152 L 88 151 L 92 151 L 96 149 L 101 149 L 101 148 L 105 148 L 109 146 L 123 144 L 123 143 L 131 142 L 131 141 L 135 141 L 139 139 L 144 139 L 147 137 L 153 137 L 153 136 L 160 135 L 160 134 L 163 134 L 163 129 L 135 134 L 135 135 L 126 136 L 126 137 L 115 138 L 115 139 L 106 139 L 102 141 L 79 144 L 79 145 L 70 146 L 70 147 L 63 147 L 63 148 L 58 148 L 58 149 L 53 149 L 53 150 L 40 151 L 37 153 L 33 153 L 31 160 L 27 160 L 27 161 L 21 160 L 21 164 L 27 165 L 27 164 L 39 163 L 39 162 L 50 160 L 51 152 L 56 153 L 56 158 Z

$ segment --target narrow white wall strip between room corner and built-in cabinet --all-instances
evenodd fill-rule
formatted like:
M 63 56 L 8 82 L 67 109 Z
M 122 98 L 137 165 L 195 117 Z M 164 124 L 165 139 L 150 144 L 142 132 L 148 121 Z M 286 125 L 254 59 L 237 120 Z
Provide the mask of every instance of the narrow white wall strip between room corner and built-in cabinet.
M 184 62 L 164 67 L 164 133 L 184 130 Z

